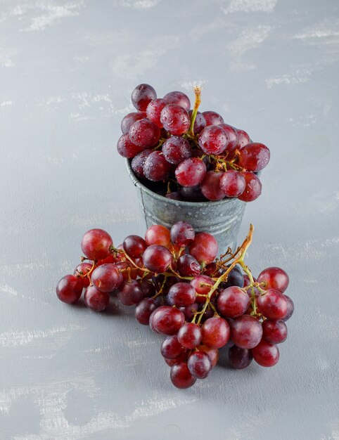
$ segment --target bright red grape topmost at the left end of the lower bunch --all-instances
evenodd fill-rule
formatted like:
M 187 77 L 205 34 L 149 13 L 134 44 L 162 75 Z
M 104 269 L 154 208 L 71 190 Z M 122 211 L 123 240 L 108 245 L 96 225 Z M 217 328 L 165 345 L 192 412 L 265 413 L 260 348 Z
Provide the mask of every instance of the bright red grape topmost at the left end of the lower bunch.
M 103 229 L 90 229 L 81 240 L 82 252 L 91 260 L 107 258 L 112 244 L 112 237 Z

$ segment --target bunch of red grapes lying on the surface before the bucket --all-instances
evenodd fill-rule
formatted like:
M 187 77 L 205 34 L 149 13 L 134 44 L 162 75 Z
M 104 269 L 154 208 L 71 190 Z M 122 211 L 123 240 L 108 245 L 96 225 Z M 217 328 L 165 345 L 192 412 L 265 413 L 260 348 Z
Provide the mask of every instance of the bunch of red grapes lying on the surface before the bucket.
M 82 263 L 61 278 L 56 294 L 73 304 L 84 290 L 84 303 L 94 311 L 105 310 L 110 295 L 135 306 L 139 323 L 167 336 L 160 352 L 175 387 L 207 377 L 222 347 L 234 368 L 248 367 L 253 358 L 271 367 L 294 306 L 284 294 L 285 271 L 269 267 L 255 279 L 244 263 L 252 230 L 234 253 L 217 258 L 215 238 L 184 221 L 170 231 L 151 226 L 145 238 L 129 235 L 117 247 L 107 232 L 91 229 L 82 238 Z

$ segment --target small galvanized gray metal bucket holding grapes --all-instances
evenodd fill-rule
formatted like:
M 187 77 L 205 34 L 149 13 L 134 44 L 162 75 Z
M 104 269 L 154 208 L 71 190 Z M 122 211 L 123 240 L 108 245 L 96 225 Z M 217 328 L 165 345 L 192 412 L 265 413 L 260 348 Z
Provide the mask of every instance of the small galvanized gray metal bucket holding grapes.
M 146 226 L 162 224 L 167 228 L 177 221 L 187 221 L 196 232 L 208 232 L 215 236 L 219 253 L 228 247 L 236 249 L 239 228 L 246 203 L 237 198 L 225 198 L 219 202 L 183 202 L 172 200 L 146 188 L 135 176 L 129 161 L 126 166 L 134 186 L 140 193 L 140 202 Z

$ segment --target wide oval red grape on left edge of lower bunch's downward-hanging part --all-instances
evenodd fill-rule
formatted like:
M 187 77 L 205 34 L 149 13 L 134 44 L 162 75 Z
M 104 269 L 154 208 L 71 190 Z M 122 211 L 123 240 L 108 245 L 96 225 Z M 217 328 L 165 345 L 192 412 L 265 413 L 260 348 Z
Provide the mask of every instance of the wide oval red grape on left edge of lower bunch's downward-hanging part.
M 151 329 L 163 335 L 176 335 L 184 322 L 184 313 L 175 307 L 169 306 L 158 307 L 150 317 Z

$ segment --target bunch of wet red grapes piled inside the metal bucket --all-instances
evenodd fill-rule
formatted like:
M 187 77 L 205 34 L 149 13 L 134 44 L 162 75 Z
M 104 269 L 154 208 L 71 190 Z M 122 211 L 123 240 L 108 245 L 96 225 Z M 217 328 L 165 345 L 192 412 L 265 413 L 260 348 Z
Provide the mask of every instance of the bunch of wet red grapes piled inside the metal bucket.
M 257 173 L 269 162 L 269 148 L 224 123 L 217 112 L 193 110 L 188 96 L 171 91 L 157 98 L 152 86 L 132 92 L 136 112 L 122 119 L 117 151 L 151 190 L 174 200 L 203 202 L 238 198 L 251 202 L 262 184 Z

